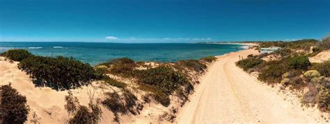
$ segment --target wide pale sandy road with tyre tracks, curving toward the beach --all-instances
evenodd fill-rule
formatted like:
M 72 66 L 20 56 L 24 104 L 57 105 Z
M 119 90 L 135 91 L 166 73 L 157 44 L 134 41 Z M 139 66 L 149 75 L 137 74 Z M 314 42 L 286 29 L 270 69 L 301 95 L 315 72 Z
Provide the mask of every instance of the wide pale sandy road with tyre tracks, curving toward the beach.
M 178 113 L 178 123 L 316 123 L 310 113 L 235 66 L 239 51 L 220 56 Z

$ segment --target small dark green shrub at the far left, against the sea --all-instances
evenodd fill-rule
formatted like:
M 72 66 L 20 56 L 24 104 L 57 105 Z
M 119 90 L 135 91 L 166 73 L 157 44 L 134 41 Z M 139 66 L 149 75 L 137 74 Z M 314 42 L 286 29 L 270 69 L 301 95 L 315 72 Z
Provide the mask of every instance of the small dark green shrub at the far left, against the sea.
M 26 51 L 24 49 L 12 49 L 6 51 L 5 53 L 1 53 L 1 55 L 4 57 L 8 57 L 8 59 L 10 60 L 14 60 L 18 62 L 26 59 L 27 57 L 32 56 L 32 54 L 29 53 L 29 51 Z

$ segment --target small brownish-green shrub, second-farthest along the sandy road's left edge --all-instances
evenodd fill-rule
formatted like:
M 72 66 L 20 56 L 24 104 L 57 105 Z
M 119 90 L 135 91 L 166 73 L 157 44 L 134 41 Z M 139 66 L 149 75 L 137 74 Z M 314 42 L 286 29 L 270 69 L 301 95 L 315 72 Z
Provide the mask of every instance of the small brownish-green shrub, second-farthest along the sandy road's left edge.
M 182 67 L 187 67 L 197 72 L 203 72 L 207 66 L 198 60 L 180 60 L 178 64 Z

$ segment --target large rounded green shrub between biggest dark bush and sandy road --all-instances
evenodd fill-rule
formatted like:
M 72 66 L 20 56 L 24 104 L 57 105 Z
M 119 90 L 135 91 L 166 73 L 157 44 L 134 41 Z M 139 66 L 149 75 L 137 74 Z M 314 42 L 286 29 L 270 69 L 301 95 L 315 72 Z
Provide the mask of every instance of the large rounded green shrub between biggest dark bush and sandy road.
M 167 94 L 171 94 L 179 87 L 184 87 L 185 89 L 189 89 L 189 91 L 193 89 L 186 77 L 174 71 L 171 67 L 166 66 L 142 70 L 139 83 L 155 86 Z

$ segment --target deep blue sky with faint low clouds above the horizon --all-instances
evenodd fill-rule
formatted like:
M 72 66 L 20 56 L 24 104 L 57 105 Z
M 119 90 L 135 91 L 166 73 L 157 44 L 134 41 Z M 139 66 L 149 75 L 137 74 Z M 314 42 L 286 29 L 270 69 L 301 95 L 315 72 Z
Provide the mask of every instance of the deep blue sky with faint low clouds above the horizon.
M 322 39 L 329 0 L 0 0 L 0 42 Z

